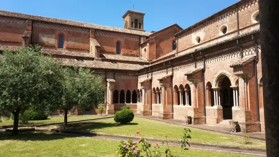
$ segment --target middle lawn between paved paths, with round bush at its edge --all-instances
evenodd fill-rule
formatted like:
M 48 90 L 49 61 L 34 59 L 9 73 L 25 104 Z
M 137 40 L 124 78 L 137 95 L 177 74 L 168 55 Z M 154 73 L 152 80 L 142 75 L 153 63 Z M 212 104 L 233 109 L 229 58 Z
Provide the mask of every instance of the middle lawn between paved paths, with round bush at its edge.
M 183 128 L 184 127 L 182 126 L 141 119 L 139 117 L 135 117 L 133 122 L 128 125 L 116 124 L 113 119 L 68 125 L 68 129 L 74 131 L 153 137 L 161 139 L 165 139 L 165 136 L 168 136 L 168 139 L 178 140 L 181 139 Z M 140 130 L 139 135 L 136 134 L 137 130 Z M 190 142 L 265 148 L 265 142 L 251 140 L 252 144 L 243 144 L 244 140 L 242 137 L 229 136 L 191 128 L 190 130 L 190 135 L 192 137 Z

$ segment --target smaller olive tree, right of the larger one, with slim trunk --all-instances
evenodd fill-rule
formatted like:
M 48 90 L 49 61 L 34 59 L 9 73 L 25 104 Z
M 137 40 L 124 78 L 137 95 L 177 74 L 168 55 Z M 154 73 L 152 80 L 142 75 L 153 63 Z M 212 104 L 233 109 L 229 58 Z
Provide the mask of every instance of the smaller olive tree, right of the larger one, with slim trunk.
M 93 108 L 104 101 L 105 86 L 102 77 L 92 74 L 86 68 L 65 68 L 63 81 L 64 126 L 67 126 L 67 113 L 78 108 Z

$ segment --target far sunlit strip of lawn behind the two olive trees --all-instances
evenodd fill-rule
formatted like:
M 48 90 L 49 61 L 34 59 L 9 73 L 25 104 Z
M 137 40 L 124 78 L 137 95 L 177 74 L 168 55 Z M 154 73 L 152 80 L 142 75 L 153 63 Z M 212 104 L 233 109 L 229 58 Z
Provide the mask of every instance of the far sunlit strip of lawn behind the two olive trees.
M 96 119 L 99 117 L 106 117 L 106 115 L 103 115 L 103 116 L 99 116 L 99 115 L 68 116 L 68 122 Z M 28 124 L 40 125 L 40 124 L 52 124 L 52 123 L 61 123 L 61 122 L 64 122 L 64 116 L 49 116 L 47 120 L 29 121 Z M 0 123 L 0 126 L 10 126 L 10 125 L 13 125 L 13 123 L 14 123 L 14 120 L 5 120 L 4 119 L 2 121 L 2 123 Z

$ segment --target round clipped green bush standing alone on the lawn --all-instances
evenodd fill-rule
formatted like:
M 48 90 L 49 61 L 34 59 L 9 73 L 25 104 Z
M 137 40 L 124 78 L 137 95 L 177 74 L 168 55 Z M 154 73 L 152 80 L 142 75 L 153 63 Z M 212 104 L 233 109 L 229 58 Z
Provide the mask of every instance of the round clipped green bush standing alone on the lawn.
M 122 109 L 114 114 L 114 121 L 120 124 L 130 123 L 134 119 L 134 113 L 131 109 Z

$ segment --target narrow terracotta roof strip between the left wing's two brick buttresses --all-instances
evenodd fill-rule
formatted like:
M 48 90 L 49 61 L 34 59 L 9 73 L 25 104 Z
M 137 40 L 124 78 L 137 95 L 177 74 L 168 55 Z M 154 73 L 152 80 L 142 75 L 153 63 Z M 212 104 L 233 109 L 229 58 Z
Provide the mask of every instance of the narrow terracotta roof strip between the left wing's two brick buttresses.
M 83 58 L 91 58 L 94 57 L 87 52 L 73 52 L 73 51 L 66 51 L 66 50 L 50 50 L 50 49 L 42 49 L 44 54 L 52 54 L 58 56 L 70 56 L 70 57 L 83 57 Z

